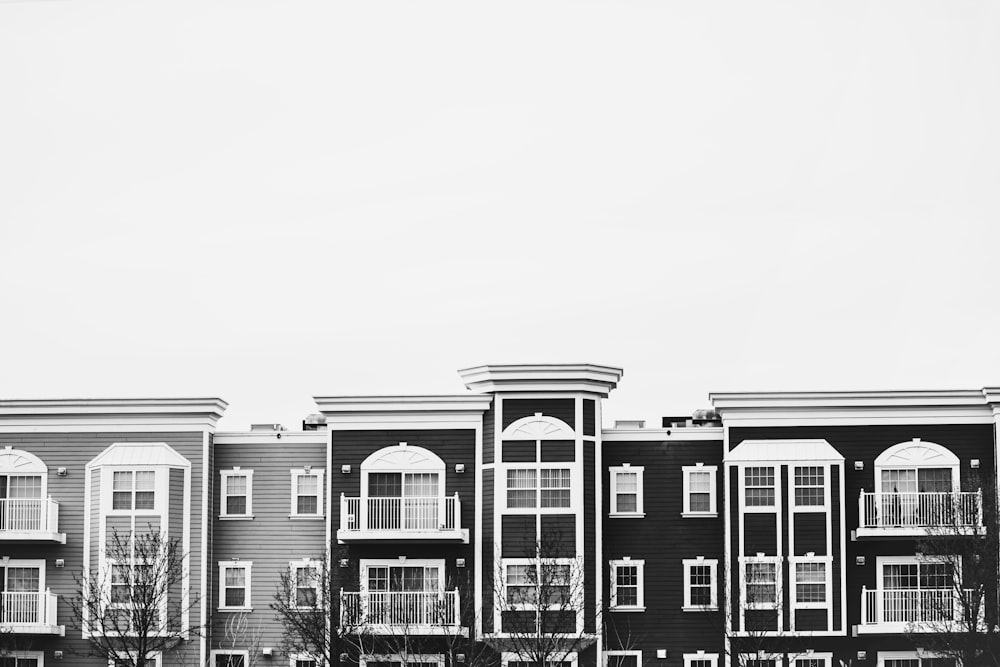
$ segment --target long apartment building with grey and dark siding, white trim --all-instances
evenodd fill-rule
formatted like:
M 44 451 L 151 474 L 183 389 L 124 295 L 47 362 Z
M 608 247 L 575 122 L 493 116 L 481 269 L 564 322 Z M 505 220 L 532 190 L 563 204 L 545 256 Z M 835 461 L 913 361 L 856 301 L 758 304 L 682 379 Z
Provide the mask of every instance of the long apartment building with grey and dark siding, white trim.
M 647 426 L 604 424 L 618 368 L 459 376 L 316 397 L 295 430 L 220 432 L 214 398 L 0 400 L 0 665 L 106 664 L 71 601 L 137 531 L 181 545 L 201 628 L 158 667 L 315 667 L 272 605 L 320 567 L 350 666 L 953 662 L 997 561 L 1000 389 L 712 394 Z

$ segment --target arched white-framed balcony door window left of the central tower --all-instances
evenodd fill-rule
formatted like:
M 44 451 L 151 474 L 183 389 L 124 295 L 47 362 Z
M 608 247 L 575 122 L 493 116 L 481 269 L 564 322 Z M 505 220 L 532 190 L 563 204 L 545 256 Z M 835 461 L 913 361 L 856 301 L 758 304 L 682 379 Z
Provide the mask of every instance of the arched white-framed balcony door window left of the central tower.
M 401 442 L 361 464 L 361 497 L 369 530 L 438 530 L 445 522 L 444 461 Z

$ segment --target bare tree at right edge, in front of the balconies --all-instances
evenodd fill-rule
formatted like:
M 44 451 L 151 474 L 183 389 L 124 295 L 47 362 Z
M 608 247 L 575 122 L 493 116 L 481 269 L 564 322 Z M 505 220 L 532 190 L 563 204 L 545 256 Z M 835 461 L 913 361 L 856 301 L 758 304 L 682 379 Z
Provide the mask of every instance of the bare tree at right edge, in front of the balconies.
M 937 588 L 900 591 L 912 598 L 901 601 L 911 640 L 964 667 L 1000 667 L 998 539 L 984 521 L 996 516 L 995 494 L 913 495 L 914 511 L 931 524 L 916 544 L 921 578 Z

